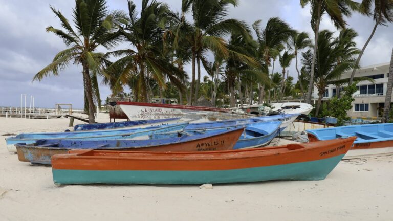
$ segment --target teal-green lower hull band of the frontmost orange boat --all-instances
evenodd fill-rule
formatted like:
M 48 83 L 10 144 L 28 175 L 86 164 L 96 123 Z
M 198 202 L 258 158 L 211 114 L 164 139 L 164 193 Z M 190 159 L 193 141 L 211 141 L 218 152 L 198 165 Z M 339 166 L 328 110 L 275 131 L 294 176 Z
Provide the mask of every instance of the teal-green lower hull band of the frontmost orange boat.
M 270 180 L 323 180 L 344 157 L 254 167 L 209 171 L 63 170 L 53 169 L 55 184 L 205 184 Z

